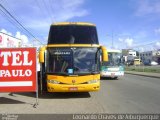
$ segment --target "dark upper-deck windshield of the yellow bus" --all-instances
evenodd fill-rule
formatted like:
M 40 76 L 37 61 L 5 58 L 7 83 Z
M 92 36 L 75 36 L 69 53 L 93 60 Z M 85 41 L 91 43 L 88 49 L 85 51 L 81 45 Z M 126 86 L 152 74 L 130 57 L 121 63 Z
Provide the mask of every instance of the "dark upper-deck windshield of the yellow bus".
M 48 44 L 99 44 L 95 26 L 52 25 Z

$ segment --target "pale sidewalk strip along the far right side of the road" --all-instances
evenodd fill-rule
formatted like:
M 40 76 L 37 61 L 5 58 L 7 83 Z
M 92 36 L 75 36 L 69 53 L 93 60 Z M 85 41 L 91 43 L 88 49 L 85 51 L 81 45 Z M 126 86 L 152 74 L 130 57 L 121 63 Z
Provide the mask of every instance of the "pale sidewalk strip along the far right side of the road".
M 125 71 L 125 74 L 140 75 L 146 77 L 160 78 L 160 73 Z

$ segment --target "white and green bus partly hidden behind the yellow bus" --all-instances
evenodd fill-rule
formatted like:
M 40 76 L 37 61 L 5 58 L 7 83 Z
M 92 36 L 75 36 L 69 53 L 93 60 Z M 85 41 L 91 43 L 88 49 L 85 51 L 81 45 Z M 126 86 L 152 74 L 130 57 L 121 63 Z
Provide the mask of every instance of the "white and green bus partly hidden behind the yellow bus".
M 108 49 L 108 61 L 102 62 L 101 77 L 111 77 L 117 79 L 124 76 L 124 66 L 121 50 Z

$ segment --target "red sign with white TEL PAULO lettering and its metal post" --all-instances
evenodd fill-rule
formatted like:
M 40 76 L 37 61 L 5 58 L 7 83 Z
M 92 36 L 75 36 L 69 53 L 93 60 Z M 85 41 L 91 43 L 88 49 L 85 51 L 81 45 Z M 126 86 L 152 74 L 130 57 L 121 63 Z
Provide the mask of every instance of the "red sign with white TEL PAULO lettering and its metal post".
M 36 92 L 36 48 L 0 49 L 0 92 Z

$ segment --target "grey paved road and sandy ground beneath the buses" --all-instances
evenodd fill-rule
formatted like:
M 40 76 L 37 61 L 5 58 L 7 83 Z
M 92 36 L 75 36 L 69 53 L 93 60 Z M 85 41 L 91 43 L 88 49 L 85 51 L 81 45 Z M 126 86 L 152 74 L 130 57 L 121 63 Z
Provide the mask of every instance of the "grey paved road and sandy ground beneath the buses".
M 160 79 L 126 74 L 101 80 L 101 90 L 90 93 L 0 93 L 0 113 L 159 113 Z

